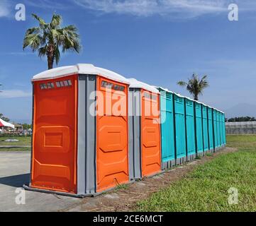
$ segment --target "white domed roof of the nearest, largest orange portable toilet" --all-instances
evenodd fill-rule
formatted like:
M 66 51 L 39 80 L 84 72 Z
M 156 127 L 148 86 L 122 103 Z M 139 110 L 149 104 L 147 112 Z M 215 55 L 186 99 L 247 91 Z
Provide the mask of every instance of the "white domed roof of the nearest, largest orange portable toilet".
M 74 66 L 61 66 L 55 69 L 50 69 L 48 71 L 43 71 L 33 76 L 32 81 L 60 78 L 78 73 L 99 75 L 111 79 L 113 81 L 129 84 L 129 81 L 125 77 L 119 75 L 118 73 L 109 71 L 107 69 L 101 69 L 99 67 L 94 66 L 93 64 L 77 64 Z

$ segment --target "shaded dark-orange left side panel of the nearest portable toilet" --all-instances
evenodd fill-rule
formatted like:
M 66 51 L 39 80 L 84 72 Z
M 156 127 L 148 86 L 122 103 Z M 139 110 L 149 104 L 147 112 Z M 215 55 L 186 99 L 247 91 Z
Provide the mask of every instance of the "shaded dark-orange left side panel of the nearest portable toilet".
M 77 76 L 36 81 L 34 93 L 31 186 L 75 194 Z

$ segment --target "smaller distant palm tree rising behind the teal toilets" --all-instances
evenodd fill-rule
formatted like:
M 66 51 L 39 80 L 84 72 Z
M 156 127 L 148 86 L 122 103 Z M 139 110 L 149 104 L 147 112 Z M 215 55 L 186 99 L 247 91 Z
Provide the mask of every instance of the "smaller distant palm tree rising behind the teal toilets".
M 188 82 L 179 81 L 177 84 L 187 86 L 187 90 L 193 95 L 194 100 L 199 100 L 199 95 L 202 95 L 203 90 L 209 86 L 206 78 L 207 76 L 203 76 L 203 78 L 200 79 L 199 76 L 194 73 Z

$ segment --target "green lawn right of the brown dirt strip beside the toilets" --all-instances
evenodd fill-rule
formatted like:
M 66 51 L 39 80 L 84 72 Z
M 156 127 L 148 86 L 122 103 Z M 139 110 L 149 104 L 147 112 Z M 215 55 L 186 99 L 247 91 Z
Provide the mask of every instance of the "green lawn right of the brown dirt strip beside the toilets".
M 256 211 L 256 136 L 228 136 L 238 148 L 199 165 L 184 179 L 138 202 L 138 211 Z M 238 204 L 228 204 L 228 189 Z

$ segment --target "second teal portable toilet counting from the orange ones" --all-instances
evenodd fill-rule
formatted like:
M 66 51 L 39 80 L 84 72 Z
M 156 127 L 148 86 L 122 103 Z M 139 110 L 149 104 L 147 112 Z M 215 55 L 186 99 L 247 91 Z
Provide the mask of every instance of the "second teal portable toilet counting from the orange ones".
M 176 138 L 176 165 L 187 160 L 184 97 L 174 94 L 174 124 Z

